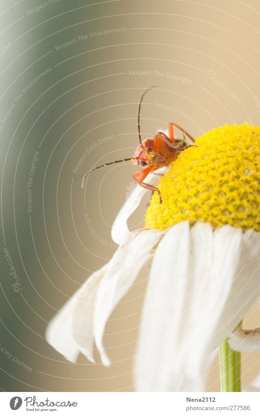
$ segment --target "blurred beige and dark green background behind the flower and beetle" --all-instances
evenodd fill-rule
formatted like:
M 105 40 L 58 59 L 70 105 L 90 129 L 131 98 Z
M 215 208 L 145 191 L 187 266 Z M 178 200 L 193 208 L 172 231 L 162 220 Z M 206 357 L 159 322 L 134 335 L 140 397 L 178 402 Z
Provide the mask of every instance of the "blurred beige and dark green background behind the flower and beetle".
M 82 355 L 71 364 L 45 340 L 56 311 L 115 252 L 111 225 L 136 167 L 100 169 L 84 189 L 82 176 L 133 155 L 138 103 L 151 84 L 158 88 L 142 104 L 142 139 L 168 122 L 194 137 L 225 123 L 259 124 L 259 1 L 0 5 L 0 389 L 133 391 L 145 273 L 107 325 L 112 367 L 97 354 L 96 365 Z M 131 229 L 143 226 L 148 201 Z M 244 326 L 258 325 L 255 305 Z M 259 372 L 259 355 L 244 354 L 243 383 Z M 219 391 L 217 360 L 208 390 Z

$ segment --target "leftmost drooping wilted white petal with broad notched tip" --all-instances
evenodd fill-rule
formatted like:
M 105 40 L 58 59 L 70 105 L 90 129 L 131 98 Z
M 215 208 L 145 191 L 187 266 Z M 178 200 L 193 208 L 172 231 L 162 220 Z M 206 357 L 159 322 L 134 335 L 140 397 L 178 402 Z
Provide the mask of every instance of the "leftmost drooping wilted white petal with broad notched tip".
M 95 291 L 106 267 L 104 266 L 91 275 L 47 326 L 47 342 L 73 363 L 77 361 L 80 351 L 91 362 L 94 362 L 92 349 Z M 81 313 L 82 319 L 79 316 Z

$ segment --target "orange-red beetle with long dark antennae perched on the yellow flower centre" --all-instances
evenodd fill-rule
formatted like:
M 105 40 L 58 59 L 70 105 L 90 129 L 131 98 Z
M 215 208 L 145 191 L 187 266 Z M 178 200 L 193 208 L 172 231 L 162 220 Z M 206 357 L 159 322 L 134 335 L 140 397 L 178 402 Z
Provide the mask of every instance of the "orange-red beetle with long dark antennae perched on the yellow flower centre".
M 141 104 L 144 95 L 147 91 L 151 90 L 152 88 L 157 87 L 157 85 L 148 87 L 143 93 L 140 99 L 139 107 L 138 107 L 138 137 L 139 137 L 139 145 L 136 148 L 134 156 L 127 159 L 115 160 L 114 162 L 104 163 L 101 166 L 97 166 L 94 169 L 88 171 L 83 179 L 82 179 L 82 188 L 84 186 L 84 180 L 86 176 L 95 171 L 96 169 L 103 168 L 108 165 L 112 165 L 114 163 L 119 162 L 127 162 L 131 160 L 134 165 L 141 165 L 142 168 L 133 174 L 133 178 L 137 180 L 140 186 L 145 189 L 149 189 L 150 191 L 158 192 L 160 203 L 163 202 L 161 192 L 158 188 L 153 185 L 149 185 L 148 183 L 143 182 L 146 176 L 152 172 L 156 171 L 163 166 L 168 166 L 170 162 L 176 160 L 178 155 L 181 151 L 185 150 L 186 148 L 194 145 L 187 145 L 186 138 L 188 137 L 189 140 L 194 142 L 193 137 L 187 133 L 182 127 L 180 127 L 176 123 L 169 123 L 168 124 L 168 136 L 163 133 L 162 131 L 158 131 L 158 133 L 154 136 L 153 139 L 145 139 L 142 142 L 141 133 L 140 133 L 140 111 L 141 111 Z M 175 139 L 174 138 L 174 127 L 180 130 L 183 133 L 183 140 Z

